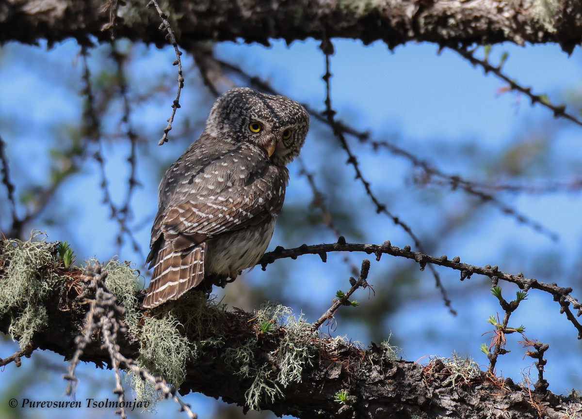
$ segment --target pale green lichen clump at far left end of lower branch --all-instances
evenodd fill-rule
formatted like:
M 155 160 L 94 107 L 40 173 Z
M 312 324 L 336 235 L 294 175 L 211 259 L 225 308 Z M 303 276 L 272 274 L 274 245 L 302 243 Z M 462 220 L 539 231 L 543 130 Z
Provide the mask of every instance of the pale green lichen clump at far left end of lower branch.
M 20 348 L 31 342 L 34 333 L 48 323 L 42 300 L 64 281 L 54 273 L 54 243 L 33 241 L 40 232 L 33 232 L 29 241 L 16 239 L 0 243 L 0 317 L 12 318 L 9 333 L 18 339 Z

